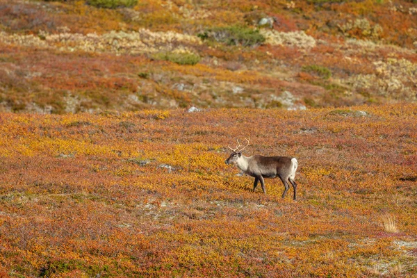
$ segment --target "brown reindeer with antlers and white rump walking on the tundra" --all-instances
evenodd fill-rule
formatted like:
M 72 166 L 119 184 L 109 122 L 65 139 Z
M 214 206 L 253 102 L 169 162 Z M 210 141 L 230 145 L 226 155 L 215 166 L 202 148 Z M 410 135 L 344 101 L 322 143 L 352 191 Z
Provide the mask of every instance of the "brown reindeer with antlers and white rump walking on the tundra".
M 229 146 L 229 149 L 232 150 L 232 153 L 229 158 L 224 161 L 224 163 L 228 165 L 236 164 L 240 170 L 245 172 L 245 174 L 249 174 L 250 176 L 254 177 L 254 192 L 256 186 L 258 186 L 258 181 L 261 181 L 263 193 L 266 193 L 265 182 L 263 181 L 263 178 L 274 179 L 279 177 L 285 186 L 284 193 L 282 193 L 282 197 L 284 198 L 288 189 L 290 188 L 288 185 L 289 181 L 294 188 L 294 200 L 296 200 L 297 183 L 295 183 L 294 178 L 295 171 L 297 171 L 298 166 L 297 159 L 287 156 L 243 156 L 243 149 L 250 145 L 250 140 L 246 138 L 245 140 L 247 141 L 247 145 L 241 149 L 239 149 L 239 140 L 238 146 L 235 149 L 232 149 Z

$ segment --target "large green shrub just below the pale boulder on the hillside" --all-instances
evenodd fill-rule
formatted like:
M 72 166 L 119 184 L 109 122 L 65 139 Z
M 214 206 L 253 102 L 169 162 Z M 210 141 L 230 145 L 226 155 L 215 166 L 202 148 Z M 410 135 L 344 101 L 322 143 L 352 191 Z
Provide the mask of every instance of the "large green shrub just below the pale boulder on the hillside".
M 215 40 L 227 45 L 242 45 L 243 47 L 253 47 L 265 42 L 265 37 L 259 30 L 254 30 L 245 26 L 227 26 L 212 28 L 204 33 L 200 33 L 202 40 Z

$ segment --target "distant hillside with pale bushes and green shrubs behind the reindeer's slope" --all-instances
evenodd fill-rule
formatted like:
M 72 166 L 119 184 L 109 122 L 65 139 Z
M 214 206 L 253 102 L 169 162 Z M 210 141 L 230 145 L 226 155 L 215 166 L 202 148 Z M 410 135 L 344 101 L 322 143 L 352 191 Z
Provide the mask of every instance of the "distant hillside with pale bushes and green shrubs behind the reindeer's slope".
M 415 1 L 0 0 L 0 109 L 414 102 L 416 49 Z

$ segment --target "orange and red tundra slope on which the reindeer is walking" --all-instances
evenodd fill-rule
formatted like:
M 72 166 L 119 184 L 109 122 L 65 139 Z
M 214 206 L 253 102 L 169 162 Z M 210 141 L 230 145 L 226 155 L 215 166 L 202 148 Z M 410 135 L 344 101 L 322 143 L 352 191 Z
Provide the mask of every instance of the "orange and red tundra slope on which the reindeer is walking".
M 0 275 L 415 277 L 417 106 L 0 114 Z M 224 164 L 300 163 L 298 201 Z

